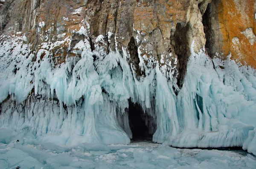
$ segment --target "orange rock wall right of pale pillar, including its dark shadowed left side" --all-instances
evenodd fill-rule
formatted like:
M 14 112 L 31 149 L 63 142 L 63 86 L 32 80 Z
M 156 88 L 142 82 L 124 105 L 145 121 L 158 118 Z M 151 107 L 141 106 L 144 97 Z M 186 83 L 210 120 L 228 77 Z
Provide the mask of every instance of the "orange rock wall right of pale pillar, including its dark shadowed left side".
M 203 17 L 209 54 L 256 66 L 256 2 L 212 0 Z

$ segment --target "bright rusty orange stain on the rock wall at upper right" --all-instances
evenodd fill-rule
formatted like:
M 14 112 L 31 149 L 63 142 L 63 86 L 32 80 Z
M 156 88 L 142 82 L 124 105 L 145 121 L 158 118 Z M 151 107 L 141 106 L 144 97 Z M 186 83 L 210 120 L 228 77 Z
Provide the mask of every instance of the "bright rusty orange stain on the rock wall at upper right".
M 254 0 L 221 0 L 218 4 L 224 55 L 231 52 L 233 60 L 253 68 L 256 68 L 256 41 L 250 43 L 243 32 L 250 29 L 252 35 L 256 34 L 255 3 Z

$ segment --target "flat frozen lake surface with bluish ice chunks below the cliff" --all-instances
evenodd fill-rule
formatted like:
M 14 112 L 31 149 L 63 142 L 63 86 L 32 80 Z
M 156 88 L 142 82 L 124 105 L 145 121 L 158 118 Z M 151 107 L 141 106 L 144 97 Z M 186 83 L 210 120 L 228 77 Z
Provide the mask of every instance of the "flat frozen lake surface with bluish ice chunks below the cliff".
M 240 150 L 176 149 L 165 144 L 0 144 L 0 169 L 255 169 L 256 158 Z

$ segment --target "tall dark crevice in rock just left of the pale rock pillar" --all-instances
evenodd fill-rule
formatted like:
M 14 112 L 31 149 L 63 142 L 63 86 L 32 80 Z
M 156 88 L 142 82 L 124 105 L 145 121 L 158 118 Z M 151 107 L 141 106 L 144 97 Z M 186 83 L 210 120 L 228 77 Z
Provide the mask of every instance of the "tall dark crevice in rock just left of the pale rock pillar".
M 177 77 L 178 86 L 182 87 L 183 80 L 186 74 L 187 62 L 190 56 L 189 43 L 187 38 L 187 32 L 189 30 L 189 24 L 186 26 L 182 26 L 180 23 L 177 23 L 176 29 L 174 32 L 174 37 L 171 37 L 175 44 L 175 54 L 177 54 L 180 67 L 179 67 L 179 75 Z

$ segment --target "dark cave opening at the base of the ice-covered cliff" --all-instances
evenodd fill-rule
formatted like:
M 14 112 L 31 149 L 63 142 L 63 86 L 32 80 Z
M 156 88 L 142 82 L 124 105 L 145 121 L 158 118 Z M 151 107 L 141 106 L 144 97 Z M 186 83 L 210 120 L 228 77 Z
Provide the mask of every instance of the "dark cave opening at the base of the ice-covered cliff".
M 152 140 L 156 130 L 156 119 L 147 115 L 138 103 L 129 100 L 129 125 L 133 141 Z

